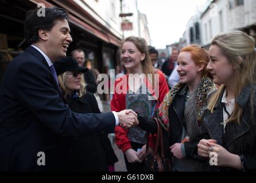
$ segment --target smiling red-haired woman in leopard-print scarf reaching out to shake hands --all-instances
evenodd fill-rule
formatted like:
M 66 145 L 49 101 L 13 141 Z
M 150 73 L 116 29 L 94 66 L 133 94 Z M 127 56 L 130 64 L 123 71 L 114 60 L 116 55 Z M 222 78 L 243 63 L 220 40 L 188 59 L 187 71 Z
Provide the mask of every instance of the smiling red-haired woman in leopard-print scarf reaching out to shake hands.
M 157 110 L 164 133 L 165 154 L 172 160 L 174 171 L 201 171 L 202 164 L 194 156 L 201 117 L 208 94 L 216 90 L 206 69 L 208 53 L 202 47 L 184 47 L 177 59 L 180 82 L 175 85 Z M 138 115 L 139 127 L 152 133 L 157 125 L 150 118 Z

